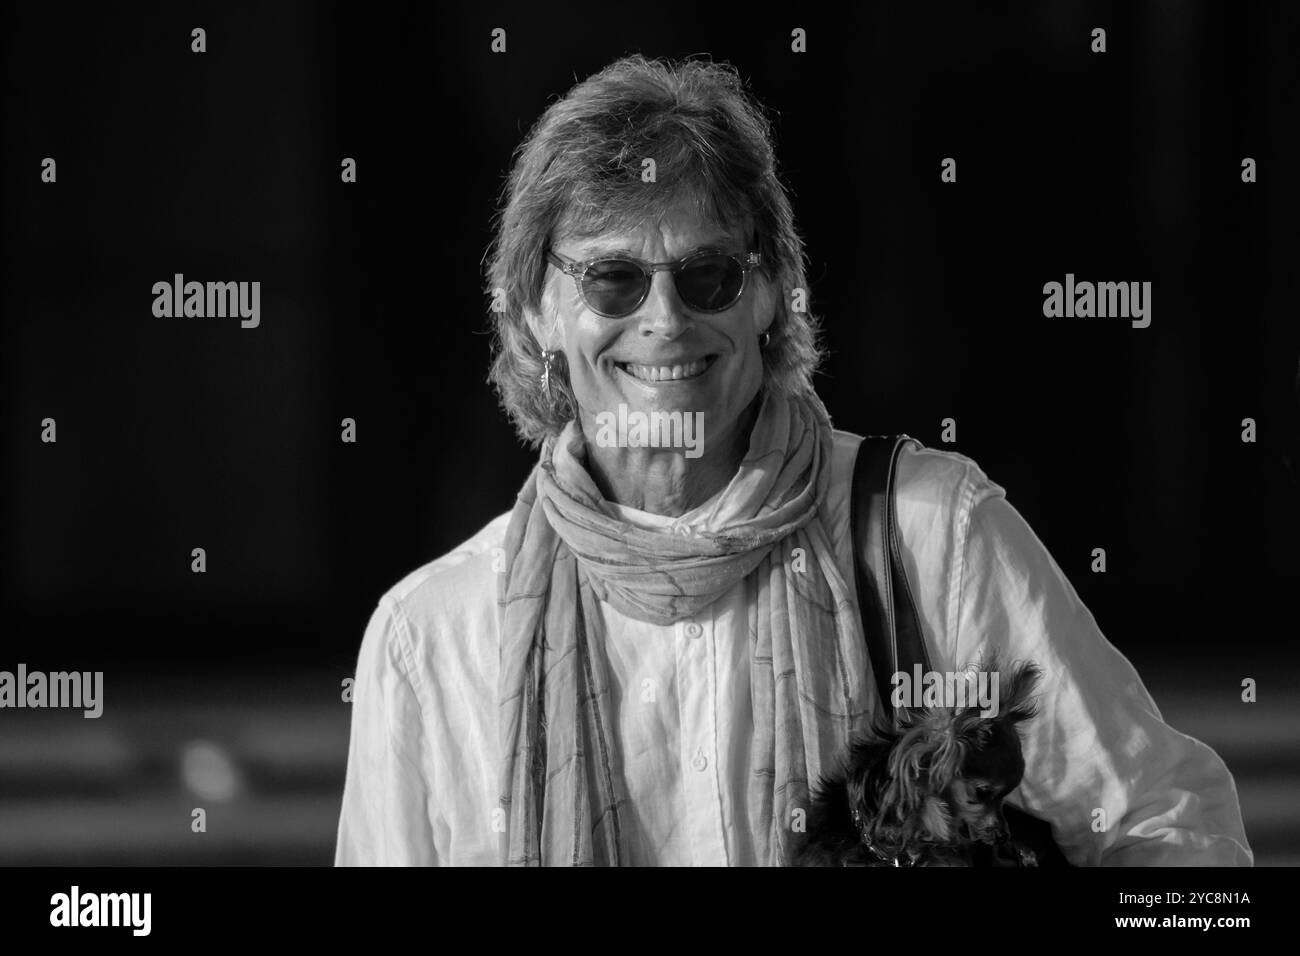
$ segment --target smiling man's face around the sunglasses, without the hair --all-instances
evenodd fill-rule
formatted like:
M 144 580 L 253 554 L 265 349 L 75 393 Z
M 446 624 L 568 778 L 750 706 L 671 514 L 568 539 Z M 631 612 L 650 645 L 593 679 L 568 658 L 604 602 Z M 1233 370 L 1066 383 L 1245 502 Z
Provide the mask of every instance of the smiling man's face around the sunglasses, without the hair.
M 560 239 L 552 248 L 566 260 L 619 254 L 666 263 L 701 248 L 748 252 L 742 235 L 703 226 L 677 207 L 634 232 Z M 547 269 L 545 295 L 550 308 L 543 308 L 534 332 L 547 347 L 564 351 L 588 436 L 597 415 L 616 414 L 621 403 L 629 412 L 703 412 L 707 446 L 734 427 L 758 394 L 763 378 L 758 337 L 771 324 L 775 300 L 757 269 L 740 299 L 723 312 L 692 310 L 668 271 L 654 274 L 646 300 L 624 319 L 593 312 L 573 278 L 554 265 Z

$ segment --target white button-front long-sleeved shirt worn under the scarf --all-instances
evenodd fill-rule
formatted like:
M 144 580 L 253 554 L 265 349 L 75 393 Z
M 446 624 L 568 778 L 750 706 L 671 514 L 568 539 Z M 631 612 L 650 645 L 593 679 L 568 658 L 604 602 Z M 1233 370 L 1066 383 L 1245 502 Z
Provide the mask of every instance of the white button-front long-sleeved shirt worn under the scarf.
M 859 437 L 836 432 L 827 498 L 854 581 L 849 490 Z M 610 506 L 647 527 L 707 523 Z M 897 514 L 931 666 L 997 648 L 1044 669 L 1009 801 L 1053 825 L 1078 865 L 1251 865 L 1236 787 L 1205 744 L 1164 723 L 1024 519 L 971 459 L 907 447 Z M 356 667 L 337 865 L 495 865 L 498 572 L 510 514 L 378 604 Z M 637 865 L 754 865 L 753 718 L 744 581 L 670 626 L 602 605 L 612 715 Z M 870 675 L 868 675 L 870 679 Z M 1102 819 L 1095 810 L 1104 810 Z

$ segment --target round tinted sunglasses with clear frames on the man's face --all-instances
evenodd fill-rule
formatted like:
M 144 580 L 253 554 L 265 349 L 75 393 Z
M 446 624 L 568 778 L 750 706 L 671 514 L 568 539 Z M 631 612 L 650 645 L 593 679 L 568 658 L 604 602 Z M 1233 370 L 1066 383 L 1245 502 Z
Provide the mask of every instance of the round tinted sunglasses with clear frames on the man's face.
M 575 261 L 546 250 L 546 259 L 566 276 L 597 315 L 624 319 L 650 295 L 654 273 L 672 272 L 677 295 L 699 312 L 722 312 L 736 304 L 745 291 L 750 269 L 762 263 L 758 252 L 728 254 L 699 250 L 673 263 L 647 263 L 632 256 L 603 256 Z

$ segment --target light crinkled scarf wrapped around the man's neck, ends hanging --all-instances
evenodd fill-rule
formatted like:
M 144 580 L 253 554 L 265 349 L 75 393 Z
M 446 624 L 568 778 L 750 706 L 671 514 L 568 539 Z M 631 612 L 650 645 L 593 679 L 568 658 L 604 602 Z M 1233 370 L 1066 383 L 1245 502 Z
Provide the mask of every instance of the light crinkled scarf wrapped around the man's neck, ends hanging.
M 599 602 L 672 624 L 746 583 L 758 860 L 789 864 L 816 783 L 876 706 L 852 587 L 823 525 L 831 421 L 764 392 L 740 470 L 682 536 L 611 516 L 576 421 L 547 441 L 506 532 L 500 580 L 500 834 L 506 865 L 633 862 Z

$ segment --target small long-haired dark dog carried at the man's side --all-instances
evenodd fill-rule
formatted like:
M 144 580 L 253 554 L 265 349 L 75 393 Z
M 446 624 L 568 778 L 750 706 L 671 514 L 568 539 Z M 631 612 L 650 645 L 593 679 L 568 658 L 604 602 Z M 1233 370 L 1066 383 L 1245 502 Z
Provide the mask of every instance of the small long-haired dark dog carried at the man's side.
M 1018 726 L 1034 718 L 1035 663 L 998 674 L 1001 706 L 905 709 L 897 727 L 854 741 L 844 770 L 823 777 L 798 866 L 1034 866 L 1011 843 L 1002 799 L 1024 775 Z

